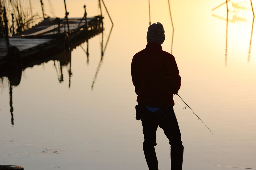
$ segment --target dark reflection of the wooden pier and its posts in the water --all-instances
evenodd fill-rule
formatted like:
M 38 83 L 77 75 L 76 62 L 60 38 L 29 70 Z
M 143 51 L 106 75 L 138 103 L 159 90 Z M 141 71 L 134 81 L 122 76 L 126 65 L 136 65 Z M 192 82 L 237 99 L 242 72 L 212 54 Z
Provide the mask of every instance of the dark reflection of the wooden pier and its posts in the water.
M 99 30 L 99 32 L 95 32 L 91 34 L 91 37 L 101 33 L 103 29 Z M 112 31 L 112 29 L 111 29 Z M 111 33 L 110 31 L 110 33 Z M 109 35 L 110 36 L 110 35 Z M 109 37 L 108 37 L 109 40 Z M 66 49 L 65 51 L 62 51 L 60 53 L 55 53 L 54 51 L 51 51 L 51 53 L 40 53 L 37 56 L 29 56 L 27 58 L 22 59 L 23 66 L 22 68 L 1 68 L 0 70 L 0 78 L 1 78 L 1 88 L 5 88 L 5 84 L 8 84 L 9 88 L 9 104 L 10 104 L 10 113 L 11 113 L 11 123 L 14 125 L 14 108 L 13 108 L 13 87 L 18 86 L 22 77 L 22 71 L 25 70 L 28 67 L 33 67 L 35 65 L 41 65 L 44 63 L 47 63 L 48 61 L 52 60 L 54 61 L 54 67 L 56 69 L 57 77 L 59 83 L 62 83 L 64 81 L 63 77 L 63 68 L 66 67 L 69 75 L 69 88 L 71 86 L 71 51 L 72 49 L 76 48 L 77 46 L 81 45 L 81 43 L 87 41 L 87 62 L 89 62 L 89 53 L 88 53 L 88 39 L 81 39 L 77 42 L 74 42 L 70 48 Z M 103 40 L 102 40 L 103 41 Z M 108 41 L 106 42 L 107 45 Z M 101 62 L 103 60 L 103 51 L 106 49 L 106 45 L 104 50 L 102 51 L 101 56 Z M 100 67 L 100 66 L 99 66 Z M 98 67 L 98 70 L 99 70 Z M 97 74 L 97 73 L 96 73 Z M 7 78 L 7 79 L 6 79 Z

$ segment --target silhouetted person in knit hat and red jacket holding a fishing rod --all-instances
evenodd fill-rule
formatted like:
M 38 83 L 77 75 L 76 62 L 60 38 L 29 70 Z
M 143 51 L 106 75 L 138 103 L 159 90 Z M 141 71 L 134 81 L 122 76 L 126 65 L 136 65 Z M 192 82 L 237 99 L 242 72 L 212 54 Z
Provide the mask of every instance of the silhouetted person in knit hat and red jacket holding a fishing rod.
M 173 94 L 180 89 L 179 70 L 172 54 L 162 50 L 165 40 L 163 25 L 148 27 L 147 46 L 134 55 L 131 72 L 138 105 L 136 119 L 143 126 L 143 150 L 150 170 L 158 169 L 156 130 L 161 127 L 171 145 L 171 169 L 181 170 L 184 147 L 179 125 L 173 111 Z

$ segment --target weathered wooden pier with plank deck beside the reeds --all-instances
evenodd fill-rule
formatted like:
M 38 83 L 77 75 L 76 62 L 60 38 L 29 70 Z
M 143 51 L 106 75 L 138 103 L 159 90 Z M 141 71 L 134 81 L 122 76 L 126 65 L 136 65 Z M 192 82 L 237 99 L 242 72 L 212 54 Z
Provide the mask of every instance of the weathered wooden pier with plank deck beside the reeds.
M 63 51 L 81 39 L 89 39 L 103 30 L 103 17 L 70 18 L 68 33 L 67 20 L 46 18 L 35 27 L 9 37 L 10 46 L 18 47 L 21 58 L 45 53 L 49 50 Z M 58 22 L 56 24 L 56 22 Z M 87 24 L 86 24 L 87 22 Z M 7 64 L 7 45 L 0 39 L 0 66 Z

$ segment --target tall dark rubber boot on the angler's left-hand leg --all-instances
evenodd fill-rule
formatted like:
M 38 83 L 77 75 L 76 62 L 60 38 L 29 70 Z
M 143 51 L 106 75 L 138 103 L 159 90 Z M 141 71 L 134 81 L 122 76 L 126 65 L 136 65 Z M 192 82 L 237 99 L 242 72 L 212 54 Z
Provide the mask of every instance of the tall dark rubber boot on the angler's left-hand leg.
M 158 170 L 155 147 L 143 149 L 149 170 Z

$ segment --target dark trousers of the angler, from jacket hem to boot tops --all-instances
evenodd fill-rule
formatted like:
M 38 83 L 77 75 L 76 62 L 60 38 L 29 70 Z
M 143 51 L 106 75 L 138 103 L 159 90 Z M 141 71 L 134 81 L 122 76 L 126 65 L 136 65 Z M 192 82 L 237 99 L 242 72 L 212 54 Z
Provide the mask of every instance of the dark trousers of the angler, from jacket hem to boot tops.
M 140 106 L 140 103 L 138 104 Z M 161 127 L 173 147 L 182 145 L 179 125 L 173 111 L 173 107 L 161 108 L 156 112 L 149 111 L 144 106 L 144 113 L 140 113 L 143 126 L 143 149 L 156 146 L 156 130 Z

